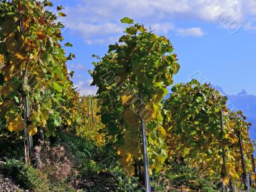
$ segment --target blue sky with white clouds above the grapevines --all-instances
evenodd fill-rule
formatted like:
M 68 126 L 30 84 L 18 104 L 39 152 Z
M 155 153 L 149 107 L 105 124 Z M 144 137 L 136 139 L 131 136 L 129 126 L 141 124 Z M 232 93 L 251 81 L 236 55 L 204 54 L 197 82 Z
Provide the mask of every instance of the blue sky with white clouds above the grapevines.
M 68 17 L 63 36 L 67 53 L 76 54 L 68 62 L 74 83 L 84 95 L 90 87 L 92 54 L 103 56 L 115 44 L 125 25 L 120 19 L 151 26 L 157 35 L 169 38 L 179 58 L 175 83 L 191 77 L 221 86 L 228 94 L 245 89 L 256 95 L 256 1 L 255 0 L 54 0 L 63 5 Z

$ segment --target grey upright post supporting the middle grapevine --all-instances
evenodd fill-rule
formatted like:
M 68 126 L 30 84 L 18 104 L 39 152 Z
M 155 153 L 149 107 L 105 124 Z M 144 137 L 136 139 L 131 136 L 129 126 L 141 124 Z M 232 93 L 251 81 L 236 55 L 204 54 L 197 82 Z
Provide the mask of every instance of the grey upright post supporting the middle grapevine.
M 142 94 L 141 84 L 139 85 L 139 93 L 140 93 L 141 102 L 143 103 L 143 94 Z M 145 120 L 143 119 L 143 116 L 141 116 L 141 133 L 142 133 L 142 144 L 143 144 L 145 191 L 146 192 L 151 192 L 149 168 L 148 168 L 147 136 L 146 136 Z

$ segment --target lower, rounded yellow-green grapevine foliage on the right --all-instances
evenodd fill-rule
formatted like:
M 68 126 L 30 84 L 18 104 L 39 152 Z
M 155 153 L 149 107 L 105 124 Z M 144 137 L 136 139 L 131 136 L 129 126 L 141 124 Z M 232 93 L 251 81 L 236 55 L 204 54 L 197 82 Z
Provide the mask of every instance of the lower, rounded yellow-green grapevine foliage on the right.
M 229 179 L 237 181 L 243 173 L 238 142 L 238 132 L 241 131 L 247 172 L 252 172 L 250 124 L 245 121 L 243 113 L 227 109 L 227 97 L 209 84 L 200 84 L 196 80 L 177 84 L 172 92 L 163 109 L 169 158 L 183 157 L 190 166 L 200 167 L 202 175 L 216 179 L 221 178 L 225 148 L 227 175 L 223 182 L 227 184 Z M 220 111 L 224 114 L 223 134 Z

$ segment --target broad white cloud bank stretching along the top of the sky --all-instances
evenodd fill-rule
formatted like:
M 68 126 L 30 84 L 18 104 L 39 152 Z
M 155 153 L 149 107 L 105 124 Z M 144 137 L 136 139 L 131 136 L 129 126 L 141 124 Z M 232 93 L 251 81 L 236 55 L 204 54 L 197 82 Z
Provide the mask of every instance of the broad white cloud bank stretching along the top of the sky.
M 65 0 L 68 1 L 68 0 Z M 63 3 L 65 3 L 63 0 Z M 223 26 L 221 14 L 232 20 L 248 23 L 248 17 L 256 18 L 255 0 L 77 0 L 65 6 L 65 22 L 74 35 L 83 37 L 86 44 L 114 43 L 122 34 L 124 25 L 120 19 L 130 17 L 136 22 L 152 26 L 156 33 L 178 33 L 193 36 L 204 35 L 202 29 L 174 24 L 176 20 L 202 20 Z M 253 21 L 254 22 L 254 21 Z M 223 26 L 228 28 L 228 26 Z M 252 28 L 254 30 L 254 28 Z

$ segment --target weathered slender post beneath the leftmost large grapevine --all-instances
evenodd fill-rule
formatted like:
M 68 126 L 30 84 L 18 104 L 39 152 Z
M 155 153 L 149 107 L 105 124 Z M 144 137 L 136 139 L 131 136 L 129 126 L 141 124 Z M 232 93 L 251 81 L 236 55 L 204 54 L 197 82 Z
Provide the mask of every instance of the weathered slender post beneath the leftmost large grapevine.
M 31 164 L 31 155 L 32 155 L 32 147 L 33 147 L 33 139 L 32 136 L 29 136 L 27 129 L 27 121 L 30 116 L 30 106 L 28 96 L 24 95 L 24 153 L 25 153 L 25 161 L 26 164 Z

